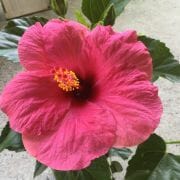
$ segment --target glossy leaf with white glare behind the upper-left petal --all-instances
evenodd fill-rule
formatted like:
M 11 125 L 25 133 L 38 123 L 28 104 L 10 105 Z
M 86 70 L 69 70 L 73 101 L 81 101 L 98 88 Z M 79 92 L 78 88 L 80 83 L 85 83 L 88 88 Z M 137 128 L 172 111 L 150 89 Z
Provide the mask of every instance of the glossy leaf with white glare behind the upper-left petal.
M 25 30 L 36 22 L 44 25 L 47 19 L 43 17 L 23 17 L 8 21 L 4 29 L 0 31 L 0 56 L 18 62 L 18 41 Z

